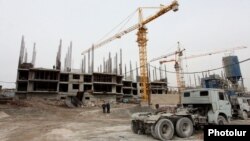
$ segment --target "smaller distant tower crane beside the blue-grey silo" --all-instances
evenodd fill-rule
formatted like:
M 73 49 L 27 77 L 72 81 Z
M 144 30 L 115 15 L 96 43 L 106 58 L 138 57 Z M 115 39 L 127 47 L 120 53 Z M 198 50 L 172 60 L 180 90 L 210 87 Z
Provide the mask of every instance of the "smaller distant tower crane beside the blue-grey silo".
M 183 57 L 182 58 L 182 52 L 185 50 L 180 50 L 179 47 L 179 43 L 178 43 L 178 48 L 175 55 L 175 59 L 170 59 L 170 60 L 161 60 L 160 64 L 163 63 L 167 63 L 167 62 L 175 62 L 175 71 L 176 71 L 176 79 L 177 79 L 177 87 L 178 87 L 178 91 L 179 93 L 182 92 L 185 88 L 185 82 L 184 82 L 184 76 L 183 76 L 183 72 L 182 72 L 182 59 L 192 59 L 192 58 L 198 58 L 198 57 L 202 57 L 202 56 L 209 56 L 209 55 L 214 55 L 214 54 L 219 54 L 219 53 L 223 53 L 223 52 L 232 52 L 234 50 L 240 50 L 240 49 L 246 49 L 246 46 L 239 46 L 239 47 L 234 47 L 234 48 L 229 48 L 229 49 L 222 49 L 222 50 L 217 50 L 217 51 L 212 51 L 212 52 L 207 52 L 207 53 L 202 53 L 202 54 L 197 54 L 197 55 L 191 55 L 191 56 L 187 56 L 187 57 Z M 169 57 L 171 56 L 167 55 L 164 56 L 163 58 Z M 154 59 L 154 61 L 156 60 L 160 60 L 162 58 L 158 57 L 156 59 Z

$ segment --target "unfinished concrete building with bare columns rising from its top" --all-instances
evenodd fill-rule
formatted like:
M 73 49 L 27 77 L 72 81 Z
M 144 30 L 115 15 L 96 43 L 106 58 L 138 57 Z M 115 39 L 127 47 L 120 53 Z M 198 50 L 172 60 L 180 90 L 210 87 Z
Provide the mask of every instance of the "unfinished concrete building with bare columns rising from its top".
M 142 88 L 140 88 L 140 76 L 138 67 L 127 71 L 126 65 L 122 64 L 122 50 L 114 57 L 111 53 L 108 59 L 103 59 L 103 64 L 99 64 L 97 71 L 94 70 L 94 50 L 89 51 L 87 57 L 84 56 L 80 69 L 72 69 L 72 43 L 68 48 L 64 68 L 61 65 L 60 41 L 56 63 L 53 69 L 36 68 L 36 48 L 34 44 L 32 61 L 27 61 L 27 52 L 25 52 L 25 41 L 22 37 L 19 64 L 17 71 L 16 95 L 19 98 L 27 96 L 56 96 L 64 98 L 66 96 L 75 96 L 78 92 L 84 93 L 84 100 L 96 102 L 98 100 L 109 101 L 129 101 L 141 97 Z M 112 61 L 113 60 L 113 61 Z M 88 64 L 88 65 L 86 65 Z M 136 77 L 134 79 L 134 71 Z M 157 79 L 156 69 L 153 70 L 153 80 L 149 87 L 151 94 L 167 94 L 167 78 L 160 72 L 160 78 Z M 150 75 L 149 75 L 150 76 Z

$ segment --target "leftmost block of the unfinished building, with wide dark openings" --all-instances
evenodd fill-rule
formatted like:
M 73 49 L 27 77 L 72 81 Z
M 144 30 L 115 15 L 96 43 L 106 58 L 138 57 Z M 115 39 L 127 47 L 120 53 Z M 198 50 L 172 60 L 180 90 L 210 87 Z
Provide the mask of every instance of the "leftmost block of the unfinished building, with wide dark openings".
M 59 70 L 43 68 L 19 68 L 16 94 L 26 97 L 27 94 L 58 94 Z

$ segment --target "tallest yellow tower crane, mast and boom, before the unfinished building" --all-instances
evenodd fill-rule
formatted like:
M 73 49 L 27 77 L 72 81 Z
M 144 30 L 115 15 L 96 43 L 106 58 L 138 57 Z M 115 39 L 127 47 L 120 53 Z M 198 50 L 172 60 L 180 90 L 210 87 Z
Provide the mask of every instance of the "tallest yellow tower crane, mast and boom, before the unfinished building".
M 146 19 L 142 18 L 142 8 L 138 8 L 138 13 L 139 13 L 139 23 L 127 28 L 124 31 L 121 31 L 119 33 L 116 33 L 115 35 L 100 41 L 96 44 L 93 44 L 92 47 L 88 48 L 87 50 L 82 52 L 82 55 L 85 53 L 100 48 L 116 39 L 120 39 L 122 36 L 138 29 L 137 32 L 137 43 L 139 46 L 139 60 L 140 60 L 140 83 L 142 84 L 142 99 L 144 101 L 149 101 L 148 96 L 149 96 L 149 90 L 148 90 L 148 72 L 147 72 L 147 28 L 145 27 L 146 24 L 149 22 L 159 18 L 160 16 L 164 15 L 165 13 L 173 10 L 174 12 L 178 11 L 178 2 L 175 0 L 173 1 L 170 5 L 167 6 L 161 6 L 160 10 L 157 11 L 154 15 L 149 16 Z

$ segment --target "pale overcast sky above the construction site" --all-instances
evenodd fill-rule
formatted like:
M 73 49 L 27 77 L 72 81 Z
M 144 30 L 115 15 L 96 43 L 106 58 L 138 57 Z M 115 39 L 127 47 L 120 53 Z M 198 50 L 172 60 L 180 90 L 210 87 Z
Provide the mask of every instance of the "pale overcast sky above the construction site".
M 52 68 L 59 40 L 63 41 L 62 59 L 70 41 L 73 42 L 73 67 L 80 68 L 81 52 L 97 42 L 138 7 L 170 4 L 170 0 L 0 0 L 0 81 L 15 82 L 21 36 L 24 35 L 28 60 L 33 43 L 37 44 L 36 67 Z M 179 11 L 169 12 L 152 21 L 148 28 L 148 60 L 175 51 L 177 41 L 186 49 L 185 55 L 247 46 L 234 52 L 239 60 L 249 58 L 250 1 L 249 0 L 179 0 Z M 144 17 L 155 9 L 144 11 Z M 135 24 L 137 14 L 123 29 Z M 113 33 L 117 32 L 114 31 Z M 111 34 L 112 35 L 112 34 Z M 108 37 L 108 36 L 106 36 Z M 136 31 L 96 50 L 95 64 L 101 64 L 108 52 L 115 55 L 123 49 L 123 62 L 133 68 L 138 62 Z M 184 71 L 202 71 L 222 66 L 217 54 L 184 61 Z M 152 64 L 158 66 L 158 62 Z M 96 68 L 97 69 L 97 66 Z M 174 71 L 174 64 L 167 69 Z M 250 63 L 241 64 L 245 85 L 250 89 Z M 213 72 L 211 72 L 213 73 Z M 215 72 L 219 73 L 219 72 Z M 169 85 L 176 86 L 174 74 L 168 74 Z M 194 85 L 193 75 L 185 76 Z M 14 87 L 14 83 L 3 83 Z

